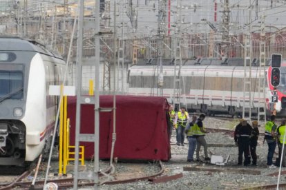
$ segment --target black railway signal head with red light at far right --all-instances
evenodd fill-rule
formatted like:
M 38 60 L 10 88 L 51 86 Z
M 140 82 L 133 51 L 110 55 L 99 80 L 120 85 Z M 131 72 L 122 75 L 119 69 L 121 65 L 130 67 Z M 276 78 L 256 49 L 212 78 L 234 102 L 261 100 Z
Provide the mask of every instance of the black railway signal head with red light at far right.
M 281 54 L 272 54 L 271 57 L 271 85 L 278 87 L 280 85 Z

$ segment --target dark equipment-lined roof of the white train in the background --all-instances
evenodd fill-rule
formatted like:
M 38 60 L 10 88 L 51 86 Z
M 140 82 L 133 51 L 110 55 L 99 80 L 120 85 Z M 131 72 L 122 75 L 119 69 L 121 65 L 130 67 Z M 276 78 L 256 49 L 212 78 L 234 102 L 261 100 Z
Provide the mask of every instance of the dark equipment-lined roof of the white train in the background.
M 270 59 L 267 59 L 266 65 L 270 65 Z M 162 59 L 162 65 L 174 65 L 175 59 Z M 158 59 L 138 59 L 137 65 L 159 65 Z M 242 58 L 198 58 L 198 59 L 182 59 L 182 65 L 229 65 L 244 66 L 245 60 Z M 249 61 L 247 63 L 249 66 Z M 259 59 L 251 61 L 252 66 L 259 66 Z

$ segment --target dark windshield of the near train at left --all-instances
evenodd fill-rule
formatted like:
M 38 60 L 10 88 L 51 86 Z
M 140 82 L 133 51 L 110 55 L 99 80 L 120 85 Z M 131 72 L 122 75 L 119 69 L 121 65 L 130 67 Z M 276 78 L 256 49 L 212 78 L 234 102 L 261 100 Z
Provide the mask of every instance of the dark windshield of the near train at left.
M 23 98 L 23 65 L 0 64 L 0 102 Z

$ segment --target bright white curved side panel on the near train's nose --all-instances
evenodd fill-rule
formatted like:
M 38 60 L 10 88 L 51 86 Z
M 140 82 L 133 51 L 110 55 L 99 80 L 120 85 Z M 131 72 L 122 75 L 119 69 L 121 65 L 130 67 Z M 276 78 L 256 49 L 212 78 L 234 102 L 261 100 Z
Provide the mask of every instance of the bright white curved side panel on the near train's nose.
M 26 151 L 26 160 L 35 160 L 44 147 L 41 133 L 46 129 L 46 71 L 41 56 L 36 54 L 30 63 L 28 93 L 26 99 L 26 114 L 23 123 L 26 123 L 26 149 L 31 146 L 33 153 Z M 37 78 L 37 80 L 35 80 Z

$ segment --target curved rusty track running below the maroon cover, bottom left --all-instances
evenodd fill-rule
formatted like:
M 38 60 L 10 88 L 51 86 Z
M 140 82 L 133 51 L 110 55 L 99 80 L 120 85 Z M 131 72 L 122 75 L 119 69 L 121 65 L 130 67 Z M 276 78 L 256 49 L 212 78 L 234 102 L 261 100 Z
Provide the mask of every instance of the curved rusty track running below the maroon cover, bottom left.
M 135 176 L 134 173 L 132 173 L 129 176 L 121 177 L 122 179 L 118 180 L 112 180 L 112 181 L 106 181 L 102 182 L 102 184 L 121 184 L 121 183 L 128 183 L 128 182 L 136 182 L 138 180 L 152 180 L 157 176 L 160 176 L 164 172 L 164 167 L 162 165 L 162 162 L 159 163 L 160 171 L 156 173 L 152 173 L 151 175 L 145 175 L 145 176 Z M 28 182 L 21 182 L 21 179 L 28 176 L 30 173 L 26 171 L 23 173 L 15 182 L 8 183 L 8 184 L 1 184 L 0 190 L 6 190 L 6 189 L 13 189 L 13 188 L 19 188 L 19 189 L 30 189 L 32 181 Z M 117 178 L 120 178 L 120 173 L 117 173 Z M 56 180 L 48 180 L 47 182 L 54 182 L 58 185 L 59 189 L 66 189 L 73 187 L 73 178 L 65 178 L 65 179 L 56 179 Z M 94 185 L 94 182 L 89 182 L 87 180 L 79 180 L 78 181 L 78 187 L 92 187 Z M 44 180 L 40 180 L 35 182 L 35 185 L 32 187 L 32 189 L 44 189 Z

